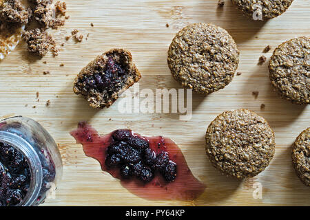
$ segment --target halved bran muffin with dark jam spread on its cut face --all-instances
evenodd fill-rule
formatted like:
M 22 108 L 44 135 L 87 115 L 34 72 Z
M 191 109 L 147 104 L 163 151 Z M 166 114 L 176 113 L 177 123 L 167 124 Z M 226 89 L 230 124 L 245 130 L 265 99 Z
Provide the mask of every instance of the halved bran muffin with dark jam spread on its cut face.
M 73 91 L 81 94 L 93 108 L 110 107 L 141 74 L 132 62 L 132 54 L 112 49 L 90 62 L 74 80 Z

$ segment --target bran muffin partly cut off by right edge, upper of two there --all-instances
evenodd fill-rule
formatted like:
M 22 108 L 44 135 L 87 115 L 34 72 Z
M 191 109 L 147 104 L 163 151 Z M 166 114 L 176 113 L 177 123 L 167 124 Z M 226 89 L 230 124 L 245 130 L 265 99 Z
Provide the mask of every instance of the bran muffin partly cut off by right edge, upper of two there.
M 295 104 L 310 103 L 310 38 L 300 36 L 276 48 L 269 63 L 273 88 Z

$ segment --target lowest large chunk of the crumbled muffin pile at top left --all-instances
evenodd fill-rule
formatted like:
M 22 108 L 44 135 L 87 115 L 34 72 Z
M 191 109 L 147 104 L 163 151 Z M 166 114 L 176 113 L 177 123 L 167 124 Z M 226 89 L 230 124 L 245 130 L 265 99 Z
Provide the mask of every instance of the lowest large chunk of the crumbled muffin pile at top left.
M 39 28 L 26 31 L 25 41 L 28 44 L 28 51 L 41 57 L 55 45 L 52 36 Z

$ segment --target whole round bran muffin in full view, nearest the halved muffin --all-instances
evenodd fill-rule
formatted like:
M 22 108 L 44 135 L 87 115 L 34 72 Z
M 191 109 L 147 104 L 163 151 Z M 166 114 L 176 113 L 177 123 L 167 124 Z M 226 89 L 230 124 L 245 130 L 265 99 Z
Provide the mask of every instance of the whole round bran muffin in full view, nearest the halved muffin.
M 237 45 L 223 28 L 194 23 L 176 34 L 168 51 L 172 76 L 200 94 L 211 94 L 231 83 L 238 68 Z

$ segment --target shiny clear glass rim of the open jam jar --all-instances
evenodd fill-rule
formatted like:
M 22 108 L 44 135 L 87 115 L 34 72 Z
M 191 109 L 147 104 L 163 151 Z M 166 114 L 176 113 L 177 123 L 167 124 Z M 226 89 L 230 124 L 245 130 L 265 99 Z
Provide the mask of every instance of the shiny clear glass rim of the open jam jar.
M 27 159 L 31 173 L 30 186 L 25 198 L 18 206 L 31 206 L 39 197 L 43 181 L 43 168 L 39 155 L 29 142 L 14 133 L 0 131 L 0 142 L 17 148 Z

